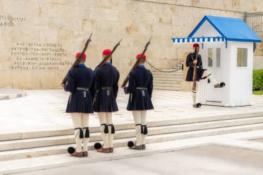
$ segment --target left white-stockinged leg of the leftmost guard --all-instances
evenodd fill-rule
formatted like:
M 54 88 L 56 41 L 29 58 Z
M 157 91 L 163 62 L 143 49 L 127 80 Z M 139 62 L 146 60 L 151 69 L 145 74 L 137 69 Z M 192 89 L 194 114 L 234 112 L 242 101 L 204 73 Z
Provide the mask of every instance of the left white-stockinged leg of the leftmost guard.
M 75 134 L 75 142 L 77 145 L 76 152 L 82 152 L 82 138 L 83 138 L 83 131 L 82 131 L 82 121 L 81 121 L 81 113 L 71 113 L 71 118 L 73 121 L 74 127 L 74 134 Z

